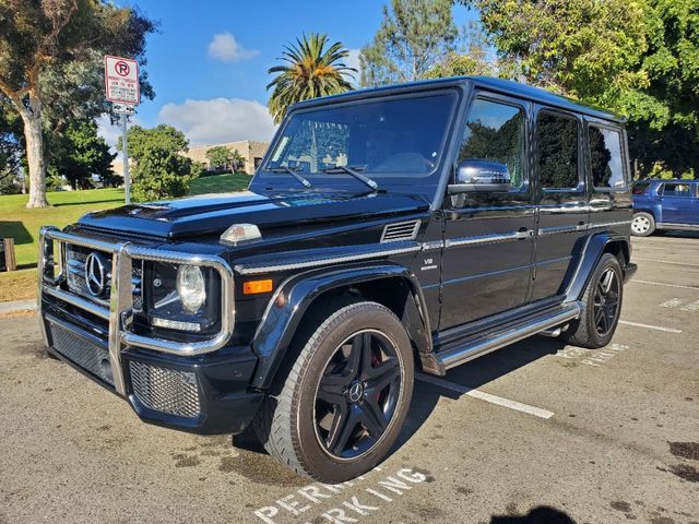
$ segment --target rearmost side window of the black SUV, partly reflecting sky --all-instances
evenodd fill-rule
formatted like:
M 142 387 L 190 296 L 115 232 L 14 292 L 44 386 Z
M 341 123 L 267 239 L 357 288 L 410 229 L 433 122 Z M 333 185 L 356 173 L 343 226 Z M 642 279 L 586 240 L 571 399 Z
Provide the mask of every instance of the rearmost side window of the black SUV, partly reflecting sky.
M 592 183 L 595 188 L 624 189 L 624 160 L 621 134 L 607 128 L 590 126 L 590 160 Z

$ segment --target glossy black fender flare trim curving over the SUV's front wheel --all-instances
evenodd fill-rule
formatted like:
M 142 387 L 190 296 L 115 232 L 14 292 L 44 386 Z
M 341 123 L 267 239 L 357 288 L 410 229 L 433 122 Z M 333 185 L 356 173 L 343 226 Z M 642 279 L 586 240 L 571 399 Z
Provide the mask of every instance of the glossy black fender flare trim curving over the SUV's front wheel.
M 407 267 L 392 263 L 375 263 L 333 270 L 311 270 L 284 281 L 270 299 L 251 344 L 259 364 L 250 385 L 258 389 L 270 386 L 301 319 L 318 297 L 340 287 L 396 277 L 410 286 L 405 314 L 411 321 L 420 324 L 410 329 L 413 322 L 408 322 L 408 336 L 420 355 L 430 353 L 431 330 L 425 299 L 417 277 Z

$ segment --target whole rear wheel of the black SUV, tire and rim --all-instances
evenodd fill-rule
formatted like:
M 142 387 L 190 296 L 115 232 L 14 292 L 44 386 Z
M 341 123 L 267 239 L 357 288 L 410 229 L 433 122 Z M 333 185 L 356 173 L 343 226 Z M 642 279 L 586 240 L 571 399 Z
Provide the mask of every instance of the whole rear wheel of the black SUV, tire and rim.
M 606 278 L 611 279 L 608 287 L 606 286 Z M 607 291 L 612 291 L 607 293 L 606 296 L 602 293 L 605 287 L 607 287 Z M 580 318 L 570 323 L 568 331 L 561 337 L 573 346 L 589 349 L 606 346 L 614 336 L 616 326 L 619 323 L 623 298 L 624 275 L 621 265 L 615 255 L 604 253 L 582 296 Z

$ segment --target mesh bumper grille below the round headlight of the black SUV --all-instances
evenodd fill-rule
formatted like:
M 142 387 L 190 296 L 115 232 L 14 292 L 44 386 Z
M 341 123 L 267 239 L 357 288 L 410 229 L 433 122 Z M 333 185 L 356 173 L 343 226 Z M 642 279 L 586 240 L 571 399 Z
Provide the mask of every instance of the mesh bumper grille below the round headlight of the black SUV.
M 145 407 L 179 417 L 199 416 L 199 392 L 194 373 L 133 360 L 129 362 L 129 369 L 133 393 Z

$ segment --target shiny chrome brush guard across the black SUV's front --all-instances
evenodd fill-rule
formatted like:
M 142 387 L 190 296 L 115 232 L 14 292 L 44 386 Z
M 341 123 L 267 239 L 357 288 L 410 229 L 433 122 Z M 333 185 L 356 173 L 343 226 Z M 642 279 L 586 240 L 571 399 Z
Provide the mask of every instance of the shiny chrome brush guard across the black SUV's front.
M 88 237 L 63 233 L 56 228 L 44 228 L 42 231 L 44 236 L 42 237 L 40 246 L 46 246 L 46 241 L 57 240 L 112 253 L 109 310 L 76 295 L 63 291 L 57 286 L 50 286 L 46 282 L 42 283 L 42 281 L 39 281 L 39 303 L 42 293 L 46 293 L 109 321 L 109 358 L 112 366 L 115 388 L 118 393 L 125 394 L 126 391 L 123 378 L 119 378 L 119 374 L 122 373 L 120 353 L 125 345 L 175 355 L 193 356 L 215 352 L 230 338 L 235 325 L 234 277 L 233 270 L 224 259 L 210 254 L 180 253 L 144 248 L 128 242 L 108 243 Z M 221 276 L 221 331 L 213 338 L 197 343 L 181 343 L 131 333 L 129 330 L 133 314 L 133 259 L 208 266 L 217 271 Z M 39 264 L 40 267 L 44 267 L 45 262 L 42 257 L 39 258 Z

